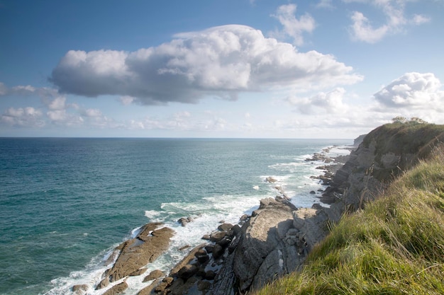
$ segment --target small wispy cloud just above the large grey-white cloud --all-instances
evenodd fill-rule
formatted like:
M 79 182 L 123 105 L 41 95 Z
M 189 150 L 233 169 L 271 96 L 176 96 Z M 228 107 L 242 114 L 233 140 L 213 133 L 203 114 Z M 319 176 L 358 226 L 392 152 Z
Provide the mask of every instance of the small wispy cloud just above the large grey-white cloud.
M 297 19 L 295 16 L 296 8 L 296 4 L 282 5 L 277 8 L 276 14 L 272 16 L 277 18 L 279 23 L 284 27 L 282 31 L 277 32 L 277 35 L 288 35 L 293 38 L 294 45 L 301 46 L 304 45 L 303 33 L 313 32 L 316 27 L 316 22 L 309 13 Z

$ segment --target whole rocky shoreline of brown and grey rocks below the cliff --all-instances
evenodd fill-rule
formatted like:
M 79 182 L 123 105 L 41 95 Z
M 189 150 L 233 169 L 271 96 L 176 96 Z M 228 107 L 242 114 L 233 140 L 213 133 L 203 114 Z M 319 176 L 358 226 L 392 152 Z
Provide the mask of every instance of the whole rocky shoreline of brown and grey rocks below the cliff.
M 331 185 L 336 171 L 349 156 L 328 156 L 324 149 L 306 161 L 323 162 L 322 175 L 315 175 L 323 185 Z M 353 149 L 353 147 L 350 147 Z M 273 178 L 265 181 L 274 183 Z M 241 216 L 238 224 L 221 223 L 218 229 L 202 237 L 204 243 L 189 250 L 170 273 L 154 270 L 143 282 L 151 282 L 138 291 L 148 294 L 240 294 L 259 289 L 284 274 L 298 270 L 311 248 L 327 234 L 327 222 L 338 220 L 340 212 L 314 204 L 296 208 L 282 187 L 275 187 L 277 196 L 260 200 L 259 209 L 250 216 Z M 316 193 L 316 192 L 311 192 Z M 331 204 L 337 192 L 323 191 L 320 202 Z M 182 226 L 192 218 L 179 219 Z M 144 275 L 145 265 L 154 261 L 170 245 L 174 231 L 160 223 L 143 226 L 135 238 L 119 245 L 111 255 L 112 267 L 106 270 L 96 290 L 105 295 L 123 294 L 126 279 Z M 115 261 L 114 261 L 115 260 Z M 113 262 L 114 261 L 114 262 Z M 113 284 L 111 288 L 109 285 Z M 76 285 L 76 295 L 87 294 L 87 285 Z

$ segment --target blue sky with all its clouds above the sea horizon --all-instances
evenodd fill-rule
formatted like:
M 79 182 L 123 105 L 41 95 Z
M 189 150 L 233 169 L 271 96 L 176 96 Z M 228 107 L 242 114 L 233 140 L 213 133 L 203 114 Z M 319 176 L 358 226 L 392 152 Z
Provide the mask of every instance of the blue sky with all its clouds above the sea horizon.
M 444 124 L 444 0 L 0 0 L 0 137 Z

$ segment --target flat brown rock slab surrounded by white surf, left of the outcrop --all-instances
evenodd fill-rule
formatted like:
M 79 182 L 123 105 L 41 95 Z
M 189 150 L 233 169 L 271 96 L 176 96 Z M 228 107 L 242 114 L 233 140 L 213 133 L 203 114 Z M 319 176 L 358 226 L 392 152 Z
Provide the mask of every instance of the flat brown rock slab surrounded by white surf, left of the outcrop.
M 167 250 L 174 231 L 167 227 L 157 229 L 160 225 L 160 223 L 146 224 L 136 238 L 124 243 L 120 255 L 107 273 L 110 282 L 127 277 Z

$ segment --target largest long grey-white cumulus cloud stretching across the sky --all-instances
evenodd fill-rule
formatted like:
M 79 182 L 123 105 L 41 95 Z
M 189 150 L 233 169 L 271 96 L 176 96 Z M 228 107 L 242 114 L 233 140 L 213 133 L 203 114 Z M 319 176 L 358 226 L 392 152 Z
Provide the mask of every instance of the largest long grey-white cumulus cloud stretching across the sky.
M 204 96 L 235 99 L 242 91 L 322 88 L 361 80 L 331 55 L 298 52 L 244 25 L 181 33 L 171 42 L 135 52 L 71 50 L 50 76 L 62 93 L 118 95 L 146 105 L 196 103 Z

